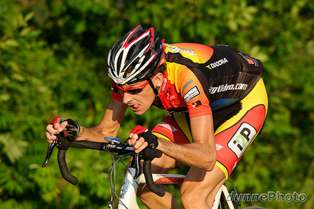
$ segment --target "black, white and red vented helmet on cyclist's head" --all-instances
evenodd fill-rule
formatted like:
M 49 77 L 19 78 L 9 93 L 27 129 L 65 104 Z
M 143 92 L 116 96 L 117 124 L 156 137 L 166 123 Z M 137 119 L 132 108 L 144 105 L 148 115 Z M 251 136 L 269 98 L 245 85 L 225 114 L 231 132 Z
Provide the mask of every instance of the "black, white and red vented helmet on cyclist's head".
M 159 32 L 158 32 L 159 33 Z M 154 28 L 137 26 L 114 44 L 107 57 L 109 77 L 117 84 L 147 79 L 156 72 L 165 57 L 163 40 Z

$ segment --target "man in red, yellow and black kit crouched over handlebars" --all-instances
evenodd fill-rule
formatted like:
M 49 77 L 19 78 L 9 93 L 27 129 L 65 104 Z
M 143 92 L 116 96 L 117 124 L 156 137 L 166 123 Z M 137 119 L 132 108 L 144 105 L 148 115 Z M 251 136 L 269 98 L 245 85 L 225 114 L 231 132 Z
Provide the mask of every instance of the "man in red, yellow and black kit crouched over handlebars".
M 147 146 L 163 151 L 153 161 L 154 173 L 179 163 L 190 166 L 181 203 L 211 208 L 219 187 L 262 131 L 268 105 L 262 63 L 227 45 L 166 44 L 153 28 L 137 26 L 112 47 L 107 67 L 112 98 L 99 125 L 87 128 L 55 117 L 47 125 L 47 141 L 59 133 L 70 140 L 103 141 L 117 135 L 128 106 L 142 115 L 156 105 L 169 115 L 151 131 L 137 125 L 128 144 L 136 152 Z M 144 187 L 137 196 L 148 208 L 179 208 L 169 192 L 160 198 Z

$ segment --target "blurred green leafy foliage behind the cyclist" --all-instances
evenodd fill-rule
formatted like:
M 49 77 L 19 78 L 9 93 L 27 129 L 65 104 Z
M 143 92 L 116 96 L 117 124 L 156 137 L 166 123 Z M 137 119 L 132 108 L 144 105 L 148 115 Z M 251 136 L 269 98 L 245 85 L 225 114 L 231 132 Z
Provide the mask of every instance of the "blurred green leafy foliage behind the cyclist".
M 61 178 L 47 150 L 54 116 L 97 125 L 110 98 L 105 60 L 134 26 L 154 26 L 166 42 L 225 44 L 261 59 L 269 93 L 264 133 L 230 176 L 240 193 L 306 194 L 306 201 L 244 202 L 314 207 L 314 1 L 312 0 L 1 0 L 0 208 L 107 208 L 110 156 L 72 149 Z M 119 137 L 154 127 L 165 111 L 126 113 Z M 186 167 L 174 173 L 186 172 Z M 117 170 L 123 173 L 122 167 Z M 117 176 L 121 185 L 123 175 Z M 179 200 L 178 187 L 169 187 Z

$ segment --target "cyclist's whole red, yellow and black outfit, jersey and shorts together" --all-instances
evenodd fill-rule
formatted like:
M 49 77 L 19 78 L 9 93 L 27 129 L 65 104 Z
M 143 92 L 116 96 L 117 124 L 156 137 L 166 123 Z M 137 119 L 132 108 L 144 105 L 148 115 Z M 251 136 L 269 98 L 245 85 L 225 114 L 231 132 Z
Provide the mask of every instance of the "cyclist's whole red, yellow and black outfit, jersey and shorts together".
M 189 118 L 213 114 L 216 166 L 228 178 L 266 119 L 264 67 L 259 60 L 226 45 L 165 46 L 167 71 L 154 105 L 172 114 L 151 132 L 177 144 L 190 143 Z M 112 91 L 112 98 L 122 101 L 118 91 Z

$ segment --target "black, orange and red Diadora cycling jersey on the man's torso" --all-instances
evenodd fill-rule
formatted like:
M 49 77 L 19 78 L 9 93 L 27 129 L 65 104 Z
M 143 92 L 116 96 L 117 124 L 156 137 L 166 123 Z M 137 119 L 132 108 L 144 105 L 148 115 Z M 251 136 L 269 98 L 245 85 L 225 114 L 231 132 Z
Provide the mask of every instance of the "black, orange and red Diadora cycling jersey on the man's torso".
M 262 63 L 232 47 L 194 43 L 166 46 L 164 74 L 157 107 L 188 111 L 190 117 L 211 114 L 243 99 L 262 77 Z M 112 98 L 122 101 L 118 91 Z M 160 104 L 161 103 L 161 104 Z

